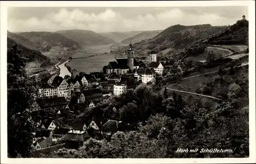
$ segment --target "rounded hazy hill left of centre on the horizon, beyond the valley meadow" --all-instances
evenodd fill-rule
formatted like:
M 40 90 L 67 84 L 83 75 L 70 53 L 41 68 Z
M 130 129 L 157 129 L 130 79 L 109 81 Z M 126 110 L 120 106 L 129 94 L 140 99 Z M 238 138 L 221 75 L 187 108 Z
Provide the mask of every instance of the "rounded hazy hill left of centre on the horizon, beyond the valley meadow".
M 63 36 L 76 41 L 79 45 L 104 45 L 116 43 L 114 40 L 88 30 L 61 30 L 57 31 Z

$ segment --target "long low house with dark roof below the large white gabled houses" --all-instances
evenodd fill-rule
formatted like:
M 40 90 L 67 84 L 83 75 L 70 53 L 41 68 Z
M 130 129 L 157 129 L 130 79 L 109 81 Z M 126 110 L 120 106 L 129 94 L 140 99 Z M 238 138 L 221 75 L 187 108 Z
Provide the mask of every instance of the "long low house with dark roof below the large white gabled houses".
M 68 102 L 65 97 L 44 97 L 38 98 L 33 104 L 30 106 L 29 111 L 38 111 L 38 110 L 45 110 L 45 111 L 55 111 L 61 108 L 66 108 Z

